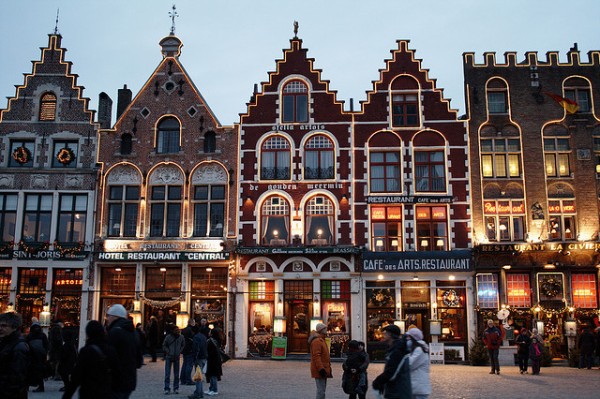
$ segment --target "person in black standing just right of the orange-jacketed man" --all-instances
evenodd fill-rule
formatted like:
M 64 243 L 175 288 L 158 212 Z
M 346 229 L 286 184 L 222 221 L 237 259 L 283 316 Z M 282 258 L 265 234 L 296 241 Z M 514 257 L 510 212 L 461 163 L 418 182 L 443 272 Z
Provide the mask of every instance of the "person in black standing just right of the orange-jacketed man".
M 348 354 L 342 363 L 342 388 L 347 393 L 348 399 L 365 399 L 367 397 L 367 368 L 369 367 L 369 355 L 364 351 L 360 342 L 351 340 L 348 342 Z

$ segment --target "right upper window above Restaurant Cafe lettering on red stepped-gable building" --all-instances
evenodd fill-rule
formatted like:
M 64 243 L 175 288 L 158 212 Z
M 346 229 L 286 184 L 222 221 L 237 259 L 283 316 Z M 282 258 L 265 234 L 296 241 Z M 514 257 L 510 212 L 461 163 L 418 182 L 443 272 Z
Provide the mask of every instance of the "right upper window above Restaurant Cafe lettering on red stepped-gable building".
M 446 163 L 444 151 L 415 151 L 415 191 L 445 192 Z

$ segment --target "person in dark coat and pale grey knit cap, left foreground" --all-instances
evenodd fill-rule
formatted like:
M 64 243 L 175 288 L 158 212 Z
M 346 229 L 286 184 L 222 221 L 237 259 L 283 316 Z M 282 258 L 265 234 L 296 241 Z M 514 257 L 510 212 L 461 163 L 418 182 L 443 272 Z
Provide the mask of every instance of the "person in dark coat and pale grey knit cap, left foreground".
M 113 305 L 106 312 L 108 342 L 117 353 L 119 371 L 112 374 L 112 399 L 128 399 L 137 384 L 138 342 L 133 323 L 123 305 Z

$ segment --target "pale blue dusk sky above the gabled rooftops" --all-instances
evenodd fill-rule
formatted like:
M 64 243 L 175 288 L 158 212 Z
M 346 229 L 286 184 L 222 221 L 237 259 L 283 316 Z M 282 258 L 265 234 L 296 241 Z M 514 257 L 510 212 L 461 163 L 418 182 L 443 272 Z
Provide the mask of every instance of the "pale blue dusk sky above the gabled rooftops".
M 267 80 L 293 37 L 338 92 L 354 98 L 355 108 L 378 79 L 379 69 L 410 40 L 422 66 L 429 69 L 451 106 L 465 112 L 463 52 L 526 51 L 566 53 L 575 42 L 582 60 L 600 50 L 598 0 L 0 0 L 0 108 L 40 59 L 48 34 L 58 30 L 66 59 L 85 87 L 90 108 L 106 92 L 116 109 L 124 84 L 135 95 L 162 59 L 158 42 L 171 29 L 169 12 L 177 7 L 175 34 L 184 47 L 180 61 L 223 125 L 239 121 L 255 83 Z M 113 118 L 113 123 L 115 122 Z

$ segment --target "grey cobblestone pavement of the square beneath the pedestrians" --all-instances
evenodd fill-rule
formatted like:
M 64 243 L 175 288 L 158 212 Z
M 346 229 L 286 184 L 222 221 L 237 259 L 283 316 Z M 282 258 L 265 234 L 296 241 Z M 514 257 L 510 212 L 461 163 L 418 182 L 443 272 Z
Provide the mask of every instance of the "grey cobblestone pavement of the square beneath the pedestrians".
M 369 367 L 372 380 L 383 369 L 382 363 Z M 236 359 L 223 365 L 216 398 L 281 399 L 315 396 L 315 383 L 310 378 L 306 360 Z M 600 396 L 600 370 L 578 370 L 568 367 L 544 367 L 541 374 L 521 375 L 518 368 L 504 367 L 500 375 L 488 374 L 488 367 L 433 365 L 431 398 L 443 399 L 587 399 Z M 341 363 L 333 364 L 335 378 L 327 384 L 328 399 L 348 398 L 341 388 Z M 182 386 L 179 395 L 163 395 L 164 362 L 148 363 L 138 371 L 138 388 L 131 399 L 165 397 L 187 399 L 194 387 Z M 29 393 L 33 399 L 59 399 L 62 383 L 48 381 L 45 393 Z M 206 384 L 204 384 L 205 390 Z M 76 394 L 77 395 L 77 394 Z M 77 396 L 76 396 L 77 397 Z M 205 398 L 210 396 L 204 395 Z M 374 398 L 370 388 L 367 398 Z

